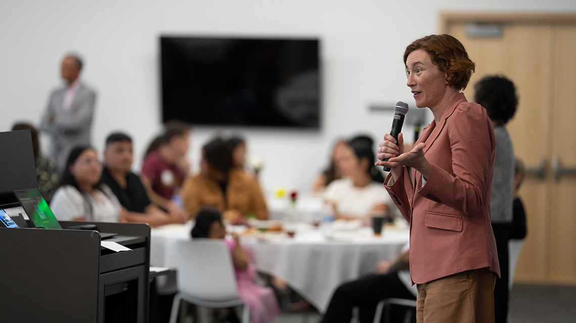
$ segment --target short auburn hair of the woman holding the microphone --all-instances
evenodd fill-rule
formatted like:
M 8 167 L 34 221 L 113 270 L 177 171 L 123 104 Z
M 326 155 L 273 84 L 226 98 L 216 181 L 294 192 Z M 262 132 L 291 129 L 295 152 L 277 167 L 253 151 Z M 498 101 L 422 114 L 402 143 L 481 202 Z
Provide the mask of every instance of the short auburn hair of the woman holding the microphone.
M 472 62 L 466 48 L 453 36 L 428 35 L 412 41 L 404 51 L 404 65 L 411 52 L 417 50 L 426 51 L 432 62 L 442 72 L 448 73 L 446 82 L 454 89 L 464 90 L 474 73 L 476 64 Z M 408 67 L 406 67 L 408 68 Z

